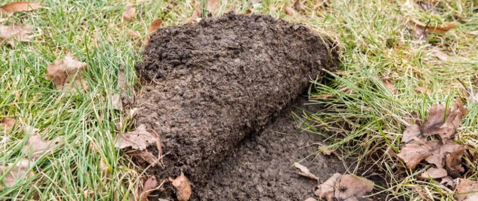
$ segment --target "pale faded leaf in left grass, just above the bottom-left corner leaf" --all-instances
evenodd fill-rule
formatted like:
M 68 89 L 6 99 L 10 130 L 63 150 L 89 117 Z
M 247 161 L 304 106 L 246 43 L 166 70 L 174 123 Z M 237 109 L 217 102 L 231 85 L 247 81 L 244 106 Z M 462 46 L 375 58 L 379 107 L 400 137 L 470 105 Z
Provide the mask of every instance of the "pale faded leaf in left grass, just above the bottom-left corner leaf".
M 62 141 L 61 137 L 57 137 L 53 140 L 43 141 L 40 135 L 31 135 L 28 138 L 27 145 L 25 145 L 23 151 L 26 156 L 32 156 L 32 158 L 38 158 L 43 153 L 51 152 Z

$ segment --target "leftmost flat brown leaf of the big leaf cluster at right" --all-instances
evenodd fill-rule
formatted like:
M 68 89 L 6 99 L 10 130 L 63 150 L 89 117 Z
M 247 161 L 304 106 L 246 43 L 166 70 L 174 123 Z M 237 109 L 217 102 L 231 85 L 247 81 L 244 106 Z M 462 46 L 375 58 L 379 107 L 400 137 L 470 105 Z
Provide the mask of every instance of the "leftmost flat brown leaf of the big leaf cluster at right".
M 408 169 L 415 168 L 420 161 L 432 155 L 431 150 L 426 146 L 421 146 L 418 144 L 406 144 L 400 153 L 397 154 L 405 164 L 407 164 Z

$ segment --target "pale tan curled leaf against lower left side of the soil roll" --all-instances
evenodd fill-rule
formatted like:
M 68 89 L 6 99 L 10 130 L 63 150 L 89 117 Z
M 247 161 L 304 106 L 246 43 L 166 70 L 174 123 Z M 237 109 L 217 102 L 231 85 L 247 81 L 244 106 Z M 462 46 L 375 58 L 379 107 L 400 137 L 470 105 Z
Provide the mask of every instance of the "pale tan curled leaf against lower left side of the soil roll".
M 139 125 L 136 130 L 130 133 L 121 133 L 115 139 L 115 147 L 124 149 L 131 147 L 132 149 L 144 150 L 149 145 L 156 142 L 156 138 L 153 134 L 146 131 L 144 124 Z

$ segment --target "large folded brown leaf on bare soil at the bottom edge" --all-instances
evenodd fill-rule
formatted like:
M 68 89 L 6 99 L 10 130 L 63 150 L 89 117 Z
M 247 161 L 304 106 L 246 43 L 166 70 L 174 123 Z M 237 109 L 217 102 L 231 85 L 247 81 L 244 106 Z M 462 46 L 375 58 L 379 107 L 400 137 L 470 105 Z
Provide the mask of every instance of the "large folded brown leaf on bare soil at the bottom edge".
M 314 194 L 327 201 L 371 200 L 363 197 L 373 190 L 373 182 L 350 174 L 335 173 L 326 182 L 318 186 Z

